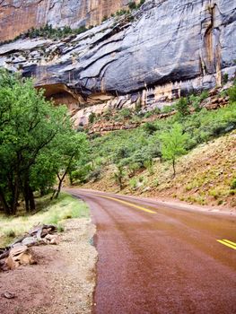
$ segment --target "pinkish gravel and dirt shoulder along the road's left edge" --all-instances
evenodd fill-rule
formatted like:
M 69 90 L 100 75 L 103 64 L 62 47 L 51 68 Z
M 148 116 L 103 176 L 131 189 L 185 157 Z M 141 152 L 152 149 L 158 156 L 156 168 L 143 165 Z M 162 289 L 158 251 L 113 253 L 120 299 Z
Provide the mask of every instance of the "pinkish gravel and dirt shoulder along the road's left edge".
M 66 222 L 57 246 L 33 247 L 37 265 L 0 274 L 1 314 L 91 313 L 97 252 L 88 218 Z M 14 293 L 6 299 L 4 292 Z

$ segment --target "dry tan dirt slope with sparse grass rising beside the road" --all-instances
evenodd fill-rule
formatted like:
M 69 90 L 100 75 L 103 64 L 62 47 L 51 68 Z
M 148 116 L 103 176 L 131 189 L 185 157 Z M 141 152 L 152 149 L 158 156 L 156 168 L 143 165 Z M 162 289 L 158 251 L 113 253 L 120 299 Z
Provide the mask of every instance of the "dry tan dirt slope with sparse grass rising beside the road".
M 172 178 L 170 163 L 156 161 L 153 173 L 144 170 L 135 176 L 136 184 L 126 179 L 120 192 L 114 184 L 114 166 L 105 169 L 104 177 L 83 188 L 122 194 L 142 195 L 159 198 L 177 198 L 198 205 L 222 205 L 236 207 L 236 131 L 201 144 L 179 158 L 177 175 Z

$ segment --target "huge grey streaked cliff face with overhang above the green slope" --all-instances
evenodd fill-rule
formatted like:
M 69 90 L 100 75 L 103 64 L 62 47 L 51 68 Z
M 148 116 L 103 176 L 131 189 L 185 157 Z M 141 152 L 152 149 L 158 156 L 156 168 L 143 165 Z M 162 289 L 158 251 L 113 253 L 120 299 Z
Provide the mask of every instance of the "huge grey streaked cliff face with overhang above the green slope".
M 76 37 L 4 45 L 0 66 L 33 76 L 80 123 L 94 104 L 162 104 L 221 84 L 235 74 L 235 42 L 234 0 L 151 0 Z

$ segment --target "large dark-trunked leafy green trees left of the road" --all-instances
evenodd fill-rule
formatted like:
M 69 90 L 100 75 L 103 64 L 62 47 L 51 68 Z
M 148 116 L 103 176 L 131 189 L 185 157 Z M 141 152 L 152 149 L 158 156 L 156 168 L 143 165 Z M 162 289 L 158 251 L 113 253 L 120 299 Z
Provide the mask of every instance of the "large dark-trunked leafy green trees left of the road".
M 86 144 L 66 107 L 54 107 L 31 80 L 0 72 L 0 201 L 6 214 L 16 213 L 20 197 L 26 211 L 34 210 L 33 192 L 52 187 L 56 175 L 82 158 Z

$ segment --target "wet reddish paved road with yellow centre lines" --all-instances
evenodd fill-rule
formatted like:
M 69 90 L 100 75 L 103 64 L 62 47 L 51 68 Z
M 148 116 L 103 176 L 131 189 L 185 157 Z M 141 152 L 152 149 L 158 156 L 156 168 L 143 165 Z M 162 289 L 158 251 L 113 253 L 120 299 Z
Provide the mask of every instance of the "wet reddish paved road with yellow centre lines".
M 94 313 L 236 313 L 236 216 L 70 192 L 97 225 Z

